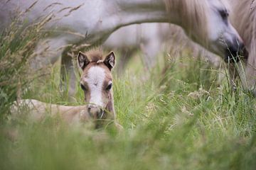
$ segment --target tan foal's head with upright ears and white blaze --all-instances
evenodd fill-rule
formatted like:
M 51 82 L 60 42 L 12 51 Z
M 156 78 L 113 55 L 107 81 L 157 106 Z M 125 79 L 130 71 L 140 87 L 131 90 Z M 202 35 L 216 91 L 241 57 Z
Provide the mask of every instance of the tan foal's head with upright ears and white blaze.
M 80 86 L 85 94 L 87 111 L 93 118 L 107 118 L 109 112 L 113 118 L 112 74 L 114 52 L 106 57 L 101 52 L 78 53 L 78 66 L 82 69 Z

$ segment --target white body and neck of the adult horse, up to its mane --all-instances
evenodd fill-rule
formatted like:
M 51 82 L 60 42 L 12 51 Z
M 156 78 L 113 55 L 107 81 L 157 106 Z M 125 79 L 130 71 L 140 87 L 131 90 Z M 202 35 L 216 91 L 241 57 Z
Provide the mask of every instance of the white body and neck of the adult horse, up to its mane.
M 70 40 L 83 40 L 92 45 L 102 42 L 114 30 L 129 24 L 145 22 L 178 23 L 176 11 L 167 13 L 164 0 L 60 0 L 58 3 L 53 3 L 52 0 L 41 0 L 37 1 L 32 8 L 29 8 L 33 2 L 33 0 L 9 1 L 1 8 L 14 11 L 17 6 L 20 6 L 22 11 L 29 11 L 27 12 L 27 18 L 30 21 L 38 18 L 38 16 L 54 13 L 56 18 L 61 19 L 58 22 L 55 22 L 55 20 L 49 23 L 48 27 L 57 26 L 57 29 L 72 30 L 79 33 L 79 35 L 74 34 L 75 39 L 70 38 Z M 27 10 L 28 8 L 29 10 Z M 53 29 L 50 28 L 50 30 Z M 58 31 L 58 33 L 62 32 Z

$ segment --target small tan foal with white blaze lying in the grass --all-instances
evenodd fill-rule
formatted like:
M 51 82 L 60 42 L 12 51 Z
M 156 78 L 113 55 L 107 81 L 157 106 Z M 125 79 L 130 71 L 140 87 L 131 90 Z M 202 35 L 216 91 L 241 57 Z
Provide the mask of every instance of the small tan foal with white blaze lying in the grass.
M 114 63 L 114 52 L 110 52 L 105 58 L 99 51 L 91 51 L 86 55 L 79 52 L 78 66 L 82 69 L 80 84 L 85 94 L 85 106 L 61 106 L 33 99 L 21 100 L 18 106 L 28 109 L 28 118 L 32 121 L 42 120 L 46 113 L 50 113 L 52 116 L 60 115 L 63 120 L 72 124 L 96 120 L 96 128 L 104 123 L 115 123 L 111 74 Z M 17 109 L 14 105 L 12 113 L 16 113 Z

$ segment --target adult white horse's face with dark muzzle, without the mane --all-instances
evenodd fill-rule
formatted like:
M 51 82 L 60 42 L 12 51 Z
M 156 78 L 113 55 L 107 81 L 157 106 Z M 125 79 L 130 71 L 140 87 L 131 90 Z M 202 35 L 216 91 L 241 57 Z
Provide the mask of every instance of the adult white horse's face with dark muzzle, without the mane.
M 218 55 L 225 55 L 225 61 L 248 53 L 245 45 L 229 21 L 229 9 L 220 0 L 208 0 L 208 37 L 210 50 Z M 239 18 L 238 18 L 239 19 Z

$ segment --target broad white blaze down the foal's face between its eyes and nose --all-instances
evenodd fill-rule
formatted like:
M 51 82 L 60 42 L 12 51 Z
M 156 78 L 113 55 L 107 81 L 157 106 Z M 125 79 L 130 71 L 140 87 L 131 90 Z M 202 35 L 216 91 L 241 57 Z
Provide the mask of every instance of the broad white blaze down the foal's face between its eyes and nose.
M 105 70 L 102 67 L 91 67 L 85 81 L 90 89 L 90 103 L 103 107 L 102 85 L 105 79 Z

